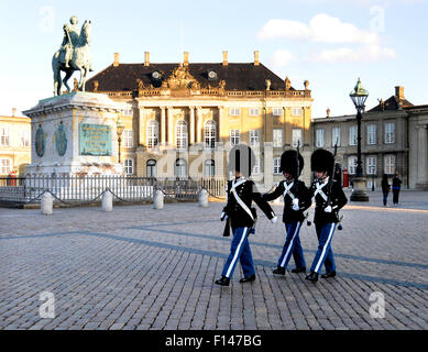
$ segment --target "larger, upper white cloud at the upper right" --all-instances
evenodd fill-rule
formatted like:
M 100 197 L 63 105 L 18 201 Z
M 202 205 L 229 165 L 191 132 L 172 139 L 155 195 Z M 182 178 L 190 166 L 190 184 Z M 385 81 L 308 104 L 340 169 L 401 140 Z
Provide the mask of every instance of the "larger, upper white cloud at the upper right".
M 319 43 L 374 44 L 380 42 L 377 33 L 360 30 L 352 23 L 342 22 L 326 13 L 315 15 L 308 24 L 289 20 L 270 20 L 257 33 L 257 37 L 261 40 L 287 37 Z

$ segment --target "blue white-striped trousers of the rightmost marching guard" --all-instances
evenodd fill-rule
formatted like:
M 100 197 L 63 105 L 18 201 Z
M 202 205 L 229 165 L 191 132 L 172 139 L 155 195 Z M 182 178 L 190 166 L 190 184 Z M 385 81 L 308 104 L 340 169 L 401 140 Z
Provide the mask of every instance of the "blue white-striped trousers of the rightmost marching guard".
M 315 224 L 318 237 L 318 250 L 315 254 L 312 266 L 310 267 L 311 272 L 319 274 L 322 264 L 325 264 L 327 273 L 336 271 L 333 252 L 331 251 L 331 241 L 333 239 L 336 226 L 336 222 Z

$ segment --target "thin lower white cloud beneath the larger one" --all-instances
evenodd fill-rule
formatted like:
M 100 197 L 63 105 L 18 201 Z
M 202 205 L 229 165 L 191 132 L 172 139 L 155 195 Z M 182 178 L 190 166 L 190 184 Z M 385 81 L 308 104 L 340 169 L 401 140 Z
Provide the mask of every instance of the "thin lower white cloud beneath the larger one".
M 395 57 L 396 52 L 393 48 L 371 44 L 358 48 L 340 47 L 337 50 L 323 50 L 320 54 L 308 56 L 307 59 L 327 63 L 369 63 Z

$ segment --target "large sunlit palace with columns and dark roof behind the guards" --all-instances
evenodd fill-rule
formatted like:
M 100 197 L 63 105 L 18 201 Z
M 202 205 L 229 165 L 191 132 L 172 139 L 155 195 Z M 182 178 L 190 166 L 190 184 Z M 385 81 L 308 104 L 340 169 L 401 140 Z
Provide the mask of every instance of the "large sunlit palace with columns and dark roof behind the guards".
M 224 177 L 227 151 L 246 143 L 256 153 L 254 179 L 282 179 L 284 148 L 311 151 L 309 82 L 292 87 L 259 61 L 229 63 L 113 63 L 86 90 L 107 94 L 123 107 L 121 160 L 127 174 L 149 177 Z M 259 177 L 259 179 L 257 179 Z M 310 177 L 309 167 L 304 176 Z

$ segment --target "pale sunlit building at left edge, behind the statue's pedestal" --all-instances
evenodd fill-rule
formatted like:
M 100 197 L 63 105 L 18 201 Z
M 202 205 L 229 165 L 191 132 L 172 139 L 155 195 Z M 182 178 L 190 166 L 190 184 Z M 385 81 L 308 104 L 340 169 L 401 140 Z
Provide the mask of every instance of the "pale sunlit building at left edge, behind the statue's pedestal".
M 31 162 L 31 119 L 0 116 L 0 176 L 23 175 Z

